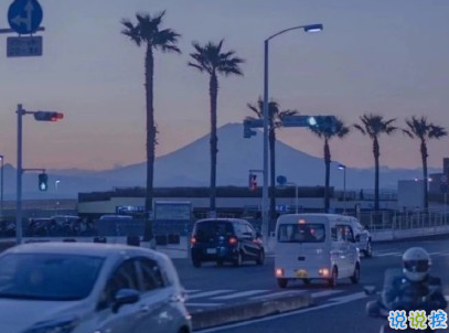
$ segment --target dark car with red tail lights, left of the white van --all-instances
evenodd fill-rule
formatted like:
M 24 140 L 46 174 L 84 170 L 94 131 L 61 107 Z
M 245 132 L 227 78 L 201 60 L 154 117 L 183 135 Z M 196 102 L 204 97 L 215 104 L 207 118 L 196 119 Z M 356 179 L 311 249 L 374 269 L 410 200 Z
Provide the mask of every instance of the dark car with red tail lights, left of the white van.
M 215 261 L 222 266 L 254 260 L 263 265 L 265 249 L 261 236 L 242 218 L 206 218 L 195 223 L 191 239 L 191 258 L 194 267 Z

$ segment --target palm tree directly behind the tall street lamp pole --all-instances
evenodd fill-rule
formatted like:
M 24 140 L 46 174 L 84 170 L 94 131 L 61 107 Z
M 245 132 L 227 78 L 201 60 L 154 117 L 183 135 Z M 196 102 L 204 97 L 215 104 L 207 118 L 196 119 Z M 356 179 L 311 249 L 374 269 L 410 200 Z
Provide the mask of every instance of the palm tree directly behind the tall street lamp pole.
M 256 118 L 264 119 L 264 100 L 259 97 L 256 104 L 247 104 L 247 107 L 256 114 Z M 282 118 L 285 116 L 295 116 L 296 110 L 279 109 L 279 104 L 271 100 L 268 103 L 268 143 L 269 143 L 269 158 L 270 158 L 270 217 L 271 221 L 276 219 L 276 130 L 282 126 Z M 247 119 L 255 119 L 254 117 L 246 117 Z

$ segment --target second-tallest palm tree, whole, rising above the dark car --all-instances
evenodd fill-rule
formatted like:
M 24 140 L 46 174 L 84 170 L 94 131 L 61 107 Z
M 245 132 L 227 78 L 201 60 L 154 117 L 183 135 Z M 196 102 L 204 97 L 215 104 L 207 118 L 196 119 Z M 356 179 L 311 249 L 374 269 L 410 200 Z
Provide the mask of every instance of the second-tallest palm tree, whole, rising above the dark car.
M 236 57 L 234 51 L 223 52 L 223 41 L 218 44 L 209 42 L 205 45 L 200 45 L 193 42 L 195 49 L 194 53 L 190 56 L 193 62 L 189 62 L 189 66 L 199 69 L 201 73 L 205 72 L 209 75 L 209 95 L 211 100 L 211 214 L 215 214 L 215 198 L 216 198 L 216 155 L 218 138 L 216 137 L 216 104 L 218 97 L 218 74 L 224 76 L 243 75 L 239 64 L 245 61 Z

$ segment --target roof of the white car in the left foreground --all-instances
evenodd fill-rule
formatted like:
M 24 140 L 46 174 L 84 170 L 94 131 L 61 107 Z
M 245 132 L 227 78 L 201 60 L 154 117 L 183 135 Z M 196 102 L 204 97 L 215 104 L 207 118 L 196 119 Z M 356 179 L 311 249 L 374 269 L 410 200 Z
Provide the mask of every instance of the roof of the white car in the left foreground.
M 163 257 L 164 255 L 122 244 L 99 244 L 99 243 L 70 243 L 70 241 L 42 241 L 28 243 L 9 248 L 4 253 L 15 254 L 62 254 L 62 255 L 82 255 L 82 256 L 98 256 L 109 257 L 118 254 L 141 254 L 150 255 L 151 257 Z

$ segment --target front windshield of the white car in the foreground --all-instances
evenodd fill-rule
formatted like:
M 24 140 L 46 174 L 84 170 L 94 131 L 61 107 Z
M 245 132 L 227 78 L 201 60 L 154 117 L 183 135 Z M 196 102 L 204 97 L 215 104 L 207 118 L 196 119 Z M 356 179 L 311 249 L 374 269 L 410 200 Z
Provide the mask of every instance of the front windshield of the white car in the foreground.
M 94 256 L 8 254 L 0 258 L 0 299 L 82 300 L 103 261 Z

